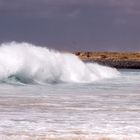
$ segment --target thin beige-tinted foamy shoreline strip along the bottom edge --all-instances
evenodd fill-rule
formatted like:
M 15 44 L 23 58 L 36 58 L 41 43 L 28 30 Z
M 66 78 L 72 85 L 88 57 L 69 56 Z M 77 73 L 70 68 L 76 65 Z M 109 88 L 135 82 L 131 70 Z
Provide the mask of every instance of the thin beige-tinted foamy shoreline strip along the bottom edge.
M 138 134 L 0 134 L 0 139 L 4 140 L 139 140 L 139 138 Z

